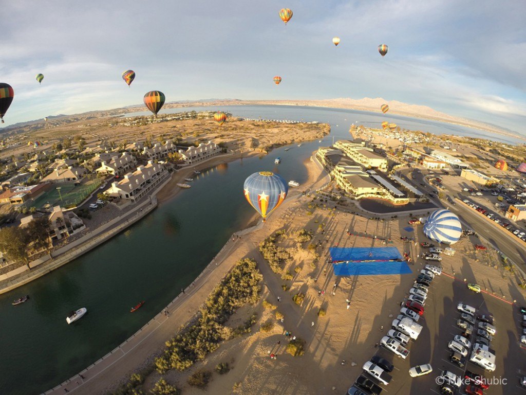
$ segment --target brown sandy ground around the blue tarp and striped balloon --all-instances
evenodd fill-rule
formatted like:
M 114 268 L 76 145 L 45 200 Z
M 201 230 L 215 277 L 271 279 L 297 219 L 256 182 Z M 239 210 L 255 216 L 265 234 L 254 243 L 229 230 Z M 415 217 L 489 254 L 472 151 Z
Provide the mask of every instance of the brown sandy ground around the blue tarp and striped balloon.
M 310 179 L 319 179 L 320 171 L 316 165 L 310 163 L 308 167 Z M 321 242 L 318 253 L 322 257 L 326 256 L 327 248 L 332 245 L 384 246 L 380 238 L 391 238 L 394 244 L 389 245 L 416 257 L 421 253 L 420 247 L 414 242 L 403 243 L 400 236 L 416 238 L 417 243 L 427 241 L 421 232 L 422 225 L 414 228 L 416 232 L 407 232 L 403 228 L 408 226 L 408 218 L 376 221 L 338 212 L 335 215 L 331 206 L 324 207 L 319 203 L 318 208 L 312 209 L 308 208 L 309 204 L 313 202 L 308 196 L 289 202 L 286 210 L 276 212 L 264 228 L 248 234 L 242 243 L 248 247 L 247 256 L 257 260 L 264 274 L 265 287 L 261 300 L 277 305 L 277 310 L 285 316 L 284 323 L 277 321 L 274 312 L 265 310 L 260 304 L 240 309 L 231 319 L 232 324 L 243 321 L 254 311 L 260 317 L 252 334 L 226 342 L 188 371 L 170 371 L 165 374 L 165 379 L 177 383 L 183 393 L 203 393 L 188 386 L 188 375 L 198 369 L 214 371 L 219 362 L 229 362 L 232 370 L 223 376 L 214 373 L 206 390 L 208 393 L 321 394 L 331 393 L 333 387 L 343 393 L 351 384 L 350 377 L 357 376 L 361 364 L 374 353 L 375 343 L 389 329 L 392 320 L 390 314 L 398 314 L 399 304 L 406 297 L 414 275 L 337 278 L 332 273 L 331 265 L 325 263 L 324 259 L 313 263 L 312 253 L 305 248 L 298 248 L 296 242 L 287 241 L 280 245 L 294 252 L 294 262 L 285 270 L 291 273 L 295 273 L 296 267 L 301 270 L 292 281 L 284 281 L 278 274 L 271 272 L 258 251 L 258 244 L 277 230 L 284 229 L 291 234 L 305 228 L 315 233 L 312 242 Z M 309 211 L 313 211 L 312 214 L 308 214 Z M 323 224 L 323 233 L 318 228 L 320 223 Z M 354 235 L 347 235 L 347 230 Z M 378 239 L 375 240 L 374 235 Z M 467 238 L 455 244 L 454 249 L 457 250 L 456 255 L 444 256 L 444 271 L 456 273 L 460 281 L 466 278 L 468 282 L 478 282 L 488 291 L 507 300 L 512 299 L 509 290 L 514 288 L 510 287 L 513 279 L 500 268 L 493 267 L 498 265 L 496 255 L 491 251 L 474 250 Z M 410 268 L 416 272 L 425 263 L 417 259 Z M 289 285 L 290 290 L 284 291 L 282 284 Z M 337 287 L 333 289 L 335 284 Z M 325 293 L 320 295 L 321 291 Z M 306 294 L 301 306 L 292 301 L 292 295 L 297 292 Z M 281 301 L 278 301 L 278 297 Z M 350 300 L 349 309 L 346 300 Z M 318 317 L 320 308 L 327 311 L 325 317 Z M 275 322 L 274 329 L 266 333 L 259 331 L 260 325 L 268 320 Z M 382 326 L 386 329 L 380 331 Z M 285 353 L 288 342 L 285 331 L 291 331 L 307 342 L 304 356 L 292 357 Z M 277 359 L 270 359 L 269 353 L 276 354 Z M 343 360 L 346 361 L 344 364 Z M 356 362 L 357 366 L 352 367 L 352 362 Z M 153 385 L 159 377 L 157 373 L 151 374 L 146 386 Z

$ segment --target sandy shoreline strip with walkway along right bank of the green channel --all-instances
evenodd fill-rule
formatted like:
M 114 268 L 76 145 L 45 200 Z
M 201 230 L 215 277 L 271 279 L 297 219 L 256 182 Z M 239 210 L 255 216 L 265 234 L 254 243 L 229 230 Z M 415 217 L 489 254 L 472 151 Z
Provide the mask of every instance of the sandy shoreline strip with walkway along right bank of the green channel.
M 309 159 L 304 162 L 304 165 L 307 167 L 308 172 L 308 180 L 304 185 L 307 190 L 311 190 L 315 185 L 318 185 L 318 187 L 323 186 L 327 175 L 323 175 L 325 171 L 321 165 L 313 160 L 313 156 L 309 157 Z M 184 176 L 184 174 L 181 174 L 181 176 Z M 170 183 L 171 182 L 173 182 L 173 180 L 171 180 Z M 165 185 L 165 187 L 168 186 L 168 184 Z M 173 193 L 167 193 L 166 196 L 163 196 L 163 201 L 171 199 L 177 192 L 178 190 L 176 189 Z M 181 290 L 182 292 L 167 305 L 168 317 L 166 317 L 163 314 L 163 310 L 161 310 L 115 349 L 73 377 L 43 392 L 42 395 L 63 394 L 65 392 L 64 389 L 67 389 L 68 392 L 74 391 L 80 395 L 104 394 L 118 386 L 119 382 L 123 381 L 129 373 L 143 368 L 151 357 L 163 349 L 165 342 L 177 333 L 178 328 L 180 328 L 181 325 L 185 325 L 194 317 L 200 305 L 203 304 L 208 297 L 208 294 L 226 275 L 232 265 L 239 259 L 250 256 L 250 254 L 254 253 L 254 249 L 257 250 L 257 243 L 254 245 L 254 242 L 247 240 L 249 239 L 247 237 L 241 240 L 240 237 L 236 238 L 235 236 L 255 234 L 259 231 L 268 232 L 272 229 L 272 225 L 279 223 L 281 219 L 279 214 L 283 214 L 290 209 L 291 205 L 298 203 L 298 199 L 301 197 L 308 198 L 308 196 L 304 196 L 302 190 L 292 190 L 287 196 L 288 199 L 286 199 L 274 215 L 267 220 L 267 225 L 258 218 L 255 226 L 239 230 L 232 234 L 226 244 L 222 246 L 221 250 L 197 276 L 193 283 L 188 285 L 184 291 Z M 252 221 L 251 219 L 248 223 Z M 175 312 L 177 312 L 177 314 L 174 314 Z M 126 358 L 128 356 L 129 358 Z M 77 382 L 79 383 L 78 385 L 76 384 Z

